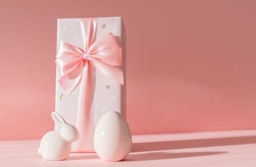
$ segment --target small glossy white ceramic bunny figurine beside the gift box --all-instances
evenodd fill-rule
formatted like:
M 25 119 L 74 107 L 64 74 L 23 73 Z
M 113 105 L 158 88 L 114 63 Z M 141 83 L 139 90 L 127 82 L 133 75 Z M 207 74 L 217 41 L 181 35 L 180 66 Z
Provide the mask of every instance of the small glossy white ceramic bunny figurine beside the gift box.
M 69 156 L 71 142 L 78 140 L 75 126 L 67 124 L 61 115 L 52 112 L 53 121 L 61 125 L 60 131 L 47 132 L 41 139 L 38 153 L 43 159 L 64 160 Z

